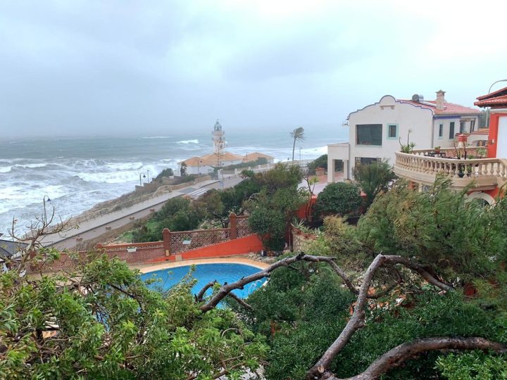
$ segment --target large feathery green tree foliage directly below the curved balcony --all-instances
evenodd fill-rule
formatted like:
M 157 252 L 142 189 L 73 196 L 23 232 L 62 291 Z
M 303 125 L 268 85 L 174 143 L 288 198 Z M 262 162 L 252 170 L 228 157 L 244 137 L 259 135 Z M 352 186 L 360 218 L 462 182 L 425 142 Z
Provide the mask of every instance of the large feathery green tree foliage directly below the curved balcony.
M 358 223 L 365 249 L 415 256 L 451 282 L 491 273 L 506 258 L 507 200 L 482 208 L 465 203 L 467 189 L 456 193 L 449 184 L 439 177 L 430 191 L 417 192 L 399 182 L 377 197 Z

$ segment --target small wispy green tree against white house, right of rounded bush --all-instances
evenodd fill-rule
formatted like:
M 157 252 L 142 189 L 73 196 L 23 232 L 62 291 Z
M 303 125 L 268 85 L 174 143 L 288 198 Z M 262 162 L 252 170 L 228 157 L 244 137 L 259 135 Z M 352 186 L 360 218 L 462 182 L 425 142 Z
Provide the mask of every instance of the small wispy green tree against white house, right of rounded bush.
M 377 194 L 387 191 L 389 183 L 396 178 L 387 160 L 378 160 L 369 165 L 356 165 L 353 168 L 352 175 L 366 194 L 366 208 L 373 203 Z

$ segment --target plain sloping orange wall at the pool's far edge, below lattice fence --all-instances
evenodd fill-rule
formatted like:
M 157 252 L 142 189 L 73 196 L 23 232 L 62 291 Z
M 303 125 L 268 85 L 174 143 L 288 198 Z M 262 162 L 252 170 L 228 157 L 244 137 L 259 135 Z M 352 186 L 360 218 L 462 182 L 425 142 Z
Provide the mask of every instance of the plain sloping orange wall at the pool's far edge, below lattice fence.
M 197 258 L 219 258 L 222 256 L 242 255 L 244 253 L 257 252 L 264 249 L 261 239 L 255 235 L 249 235 L 223 243 L 214 244 L 202 248 L 192 249 L 190 251 L 177 253 L 181 255 L 183 260 L 197 259 Z M 167 258 L 158 258 L 151 262 L 159 261 L 175 261 L 175 255 L 170 255 Z

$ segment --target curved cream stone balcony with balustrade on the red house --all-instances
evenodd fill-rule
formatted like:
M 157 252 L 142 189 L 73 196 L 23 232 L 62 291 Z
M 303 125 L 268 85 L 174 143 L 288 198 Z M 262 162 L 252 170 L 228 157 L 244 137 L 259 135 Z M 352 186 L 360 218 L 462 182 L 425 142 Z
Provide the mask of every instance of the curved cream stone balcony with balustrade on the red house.
M 467 148 L 467 154 L 477 155 L 478 148 Z M 420 149 L 413 153 L 396 153 L 394 173 L 411 182 L 430 186 L 438 173 L 449 175 L 453 189 L 462 190 L 471 185 L 474 191 L 492 190 L 507 182 L 505 158 L 474 158 L 464 160 L 456 156 L 454 148 L 441 149 L 445 157 L 432 157 L 433 149 Z M 463 148 L 461 149 L 463 156 Z

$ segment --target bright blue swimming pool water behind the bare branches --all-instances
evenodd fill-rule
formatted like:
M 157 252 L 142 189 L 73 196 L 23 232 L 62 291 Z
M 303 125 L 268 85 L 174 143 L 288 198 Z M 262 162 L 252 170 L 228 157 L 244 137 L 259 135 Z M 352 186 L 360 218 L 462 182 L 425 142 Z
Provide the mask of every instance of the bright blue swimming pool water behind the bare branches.
M 148 272 L 141 275 L 143 280 L 151 279 L 156 277 L 161 279 L 161 281 L 157 281 L 154 284 L 151 284 L 151 288 L 160 289 L 160 286 L 163 289 L 170 289 L 175 286 L 185 274 L 187 274 L 190 270 L 190 265 L 186 265 L 184 267 L 176 267 L 176 268 L 168 268 L 163 270 L 156 270 L 154 272 Z M 196 265 L 196 269 L 194 270 L 192 276 L 197 279 L 197 284 L 192 288 L 192 292 L 194 294 L 199 293 L 199 291 L 203 288 L 204 285 L 208 284 L 210 281 L 218 281 L 221 285 L 225 282 L 231 284 L 242 277 L 249 276 L 250 274 L 259 272 L 260 269 L 256 267 L 251 267 L 250 265 L 243 264 L 200 264 Z M 265 279 L 260 279 L 250 284 L 247 284 L 244 289 L 236 289 L 233 291 L 234 294 L 239 296 L 240 298 L 246 298 L 252 293 L 254 290 L 258 289 L 258 287 L 262 286 Z M 211 289 L 208 289 L 207 295 L 211 294 Z

